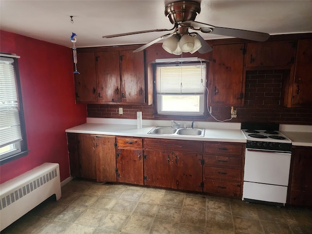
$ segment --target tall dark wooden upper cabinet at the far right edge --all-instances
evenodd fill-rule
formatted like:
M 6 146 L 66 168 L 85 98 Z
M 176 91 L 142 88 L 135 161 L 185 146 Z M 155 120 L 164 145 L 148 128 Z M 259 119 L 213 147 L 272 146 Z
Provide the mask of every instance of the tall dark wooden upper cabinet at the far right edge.
M 285 80 L 284 105 L 303 107 L 312 105 L 312 39 L 299 39 L 292 75 Z

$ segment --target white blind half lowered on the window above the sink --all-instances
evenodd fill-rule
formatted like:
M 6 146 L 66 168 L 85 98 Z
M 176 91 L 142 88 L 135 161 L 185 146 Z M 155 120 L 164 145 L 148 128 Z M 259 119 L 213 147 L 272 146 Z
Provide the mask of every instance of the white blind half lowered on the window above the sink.
M 156 77 L 157 94 L 202 94 L 205 91 L 206 63 L 159 64 Z

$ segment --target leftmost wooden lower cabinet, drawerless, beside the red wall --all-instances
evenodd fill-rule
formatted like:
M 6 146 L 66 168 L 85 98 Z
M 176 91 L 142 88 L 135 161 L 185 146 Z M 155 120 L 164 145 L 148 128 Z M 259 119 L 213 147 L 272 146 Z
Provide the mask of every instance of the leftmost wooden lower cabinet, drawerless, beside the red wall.
M 71 176 L 117 181 L 115 136 L 67 134 Z

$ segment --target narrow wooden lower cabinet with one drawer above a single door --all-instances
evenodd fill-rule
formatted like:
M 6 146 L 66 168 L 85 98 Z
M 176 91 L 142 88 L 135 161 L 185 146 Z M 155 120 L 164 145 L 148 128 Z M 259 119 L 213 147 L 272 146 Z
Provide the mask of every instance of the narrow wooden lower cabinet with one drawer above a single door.
M 143 185 L 143 140 L 117 137 L 117 181 Z

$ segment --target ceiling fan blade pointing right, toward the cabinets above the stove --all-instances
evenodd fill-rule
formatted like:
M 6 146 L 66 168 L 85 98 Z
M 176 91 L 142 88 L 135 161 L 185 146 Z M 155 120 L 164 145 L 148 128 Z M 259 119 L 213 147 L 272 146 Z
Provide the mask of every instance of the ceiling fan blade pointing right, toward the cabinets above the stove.
M 222 28 L 196 21 L 185 21 L 180 23 L 180 25 L 194 30 L 200 30 L 202 33 L 210 33 L 255 41 L 266 41 L 270 37 L 270 34 L 268 33 L 260 33 L 234 28 Z

